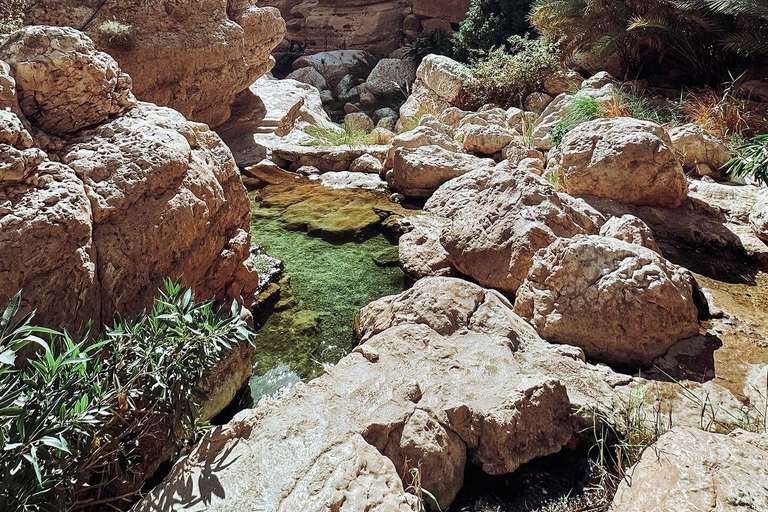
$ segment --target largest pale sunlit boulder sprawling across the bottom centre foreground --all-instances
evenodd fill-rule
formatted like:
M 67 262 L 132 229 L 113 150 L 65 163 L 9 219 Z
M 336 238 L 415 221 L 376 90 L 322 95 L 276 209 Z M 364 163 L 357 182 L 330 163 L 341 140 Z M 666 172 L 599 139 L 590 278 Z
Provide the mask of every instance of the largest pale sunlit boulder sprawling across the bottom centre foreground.
M 411 469 L 446 509 L 467 461 L 508 473 L 573 433 L 565 386 L 516 361 L 536 335 L 495 292 L 425 280 L 365 308 L 358 335 L 322 377 L 206 434 L 135 510 L 421 510 Z M 220 489 L 206 500 L 203 479 Z

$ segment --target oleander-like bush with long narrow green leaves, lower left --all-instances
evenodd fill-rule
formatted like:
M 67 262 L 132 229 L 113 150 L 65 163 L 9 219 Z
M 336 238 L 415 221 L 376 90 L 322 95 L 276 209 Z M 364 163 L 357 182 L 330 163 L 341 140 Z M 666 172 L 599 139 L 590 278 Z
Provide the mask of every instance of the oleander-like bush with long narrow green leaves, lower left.
M 239 308 L 195 303 L 167 282 L 153 309 L 118 319 L 94 343 L 15 323 L 20 296 L 0 320 L 0 503 L 3 510 L 123 507 L 147 448 L 183 446 L 201 425 L 200 384 L 235 343 L 254 333 Z M 23 349 L 37 346 L 25 366 Z M 167 436 L 163 440 L 162 436 Z

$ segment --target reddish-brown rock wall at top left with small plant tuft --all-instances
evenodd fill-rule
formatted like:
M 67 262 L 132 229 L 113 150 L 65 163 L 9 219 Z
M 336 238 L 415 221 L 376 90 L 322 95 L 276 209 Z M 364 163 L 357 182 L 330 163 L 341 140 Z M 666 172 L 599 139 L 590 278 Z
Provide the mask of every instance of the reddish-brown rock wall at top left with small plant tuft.
M 285 24 L 253 0 L 41 0 L 27 23 L 83 29 L 133 79 L 141 100 L 210 126 L 274 64 Z

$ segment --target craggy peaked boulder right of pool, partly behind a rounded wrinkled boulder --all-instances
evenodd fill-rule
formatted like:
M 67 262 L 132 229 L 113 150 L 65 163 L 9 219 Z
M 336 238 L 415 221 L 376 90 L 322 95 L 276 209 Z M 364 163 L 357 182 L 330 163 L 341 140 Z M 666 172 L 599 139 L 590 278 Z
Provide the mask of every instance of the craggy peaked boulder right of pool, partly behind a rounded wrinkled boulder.
M 451 221 L 440 240 L 454 268 L 510 296 L 537 250 L 557 237 L 597 233 L 602 219 L 586 204 L 558 195 L 540 176 L 505 166 L 449 181 L 424 212 Z

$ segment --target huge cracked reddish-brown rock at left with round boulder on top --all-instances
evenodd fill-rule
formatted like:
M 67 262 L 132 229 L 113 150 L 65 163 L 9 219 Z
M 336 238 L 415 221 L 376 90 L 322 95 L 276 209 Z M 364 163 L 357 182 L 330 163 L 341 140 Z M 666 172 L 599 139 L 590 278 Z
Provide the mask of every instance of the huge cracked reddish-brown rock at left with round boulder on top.
M 250 208 L 218 136 L 168 108 L 122 105 L 130 79 L 72 29 L 27 27 L 0 52 L 0 301 L 22 289 L 22 309 L 73 332 L 138 313 L 182 275 L 198 299 L 248 305 Z M 17 96 L 49 108 L 17 114 Z

